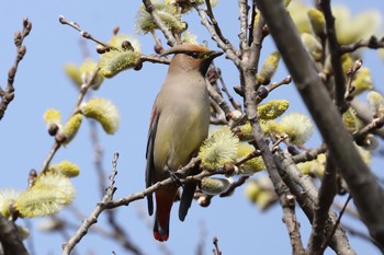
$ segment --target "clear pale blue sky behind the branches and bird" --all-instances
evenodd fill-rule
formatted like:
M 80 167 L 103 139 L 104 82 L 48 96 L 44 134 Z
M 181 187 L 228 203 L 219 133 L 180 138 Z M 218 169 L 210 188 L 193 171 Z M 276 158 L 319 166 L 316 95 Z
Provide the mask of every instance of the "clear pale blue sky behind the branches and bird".
M 225 35 L 237 45 L 237 1 L 221 1 L 217 5 L 217 20 Z M 348 3 L 350 1 L 337 1 Z M 352 11 L 376 8 L 383 10 L 380 0 L 353 1 Z M 23 189 L 26 186 L 27 174 L 31 169 L 39 169 L 53 144 L 47 135 L 43 114 L 54 107 L 61 112 L 66 119 L 72 111 L 77 100 L 77 91 L 64 73 L 64 65 L 74 62 L 80 65 L 83 60 L 80 42 L 84 43 L 91 57 L 99 56 L 93 50 L 92 42 L 84 42 L 80 35 L 69 26 L 58 22 L 63 14 L 69 21 L 76 21 L 83 30 L 102 40 L 109 40 L 114 26 L 120 25 L 121 33 L 135 35 L 134 19 L 140 1 L 113 1 L 99 3 L 91 0 L 61 1 L 54 3 L 48 0 L 7 1 L 0 9 L 0 84 L 4 86 L 9 67 L 13 62 L 14 46 L 13 33 L 22 27 L 22 19 L 27 16 L 33 23 L 33 30 L 25 39 L 27 53 L 21 62 L 15 80 L 15 100 L 9 106 L 4 118 L 0 121 L 0 188 L 13 187 Z M 358 5 L 361 4 L 361 5 Z M 187 21 L 191 32 L 199 35 L 199 40 L 208 40 L 208 46 L 215 48 L 211 36 L 200 25 L 196 13 L 188 15 Z M 384 28 L 384 27 L 383 27 Z M 135 35 L 142 44 L 144 54 L 153 54 L 154 42 L 149 35 Z M 273 43 L 267 40 L 263 45 L 262 58 L 273 50 Z M 373 51 L 366 54 L 366 65 L 372 67 L 374 82 L 379 89 L 383 84 L 383 62 Z M 238 84 L 236 68 L 224 57 L 216 60 L 222 68 L 227 85 Z M 144 188 L 145 147 L 147 126 L 153 101 L 166 76 L 167 67 L 146 63 L 140 71 L 128 70 L 117 77 L 105 80 L 94 96 L 113 101 L 120 108 L 122 123 L 115 136 L 105 135 L 99 128 L 99 136 L 103 147 L 103 166 L 109 174 L 114 152 L 120 152 L 118 175 L 116 176 L 117 192 L 115 198 L 139 192 Z M 281 70 L 276 80 L 286 76 Z M 272 93 L 273 98 L 291 101 L 290 111 L 306 113 L 293 85 L 285 86 Z M 83 123 L 76 139 L 67 147 L 61 148 L 54 159 L 55 162 L 70 160 L 81 169 L 79 177 L 74 179 L 77 188 L 77 198 L 74 206 L 81 213 L 89 215 L 100 200 L 98 179 L 93 166 L 93 149 L 90 142 L 89 125 Z M 310 146 L 318 144 L 318 137 Z M 379 170 L 380 164 L 375 163 Z M 261 173 L 262 174 L 262 173 Z M 346 198 L 341 198 L 346 199 Z M 176 205 L 176 208 L 178 205 Z M 297 209 L 302 222 L 304 242 L 309 235 L 308 222 Z M 153 239 L 153 219 L 146 215 L 146 202 L 140 200 L 116 211 L 118 222 L 127 230 L 133 241 L 146 254 L 159 254 L 159 245 L 167 246 L 173 254 L 194 254 L 196 244 L 204 240 L 205 254 L 211 254 L 212 237 L 217 236 L 219 247 L 224 254 L 290 254 L 291 247 L 286 228 L 282 223 L 280 207 L 273 207 L 267 213 L 261 213 L 244 195 L 239 188 L 229 198 L 215 198 L 208 208 L 201 208 L 194 204 L 185 222 L 177 218 L 177 210 L 172 211 L 170 240 L 159 244 Z M 79 223 L 70 212 L 65 211 L 63 217 Z M 35 254 L 60 254 L 63 237 L 57 233 L 41 233 L 37 225 L 44 219 L 30 221 L 33 231 Z M 100 222 L 104 222 L 102 216 Z M 25 221 L 19 220 L 21 224 Z M 148 227 L 149 224 L 149 227 Z M 355 225 L 357 223 L 353 222 Z M 70 232 L 69 234 L 71 234 Z M 352 246 L 358 254 L 380 254 L 372 245 L 351 237 Z M 78 245 L 79 254 L 91 251 L 97 254 L 124 254 L 118 243 L 88 234 Z

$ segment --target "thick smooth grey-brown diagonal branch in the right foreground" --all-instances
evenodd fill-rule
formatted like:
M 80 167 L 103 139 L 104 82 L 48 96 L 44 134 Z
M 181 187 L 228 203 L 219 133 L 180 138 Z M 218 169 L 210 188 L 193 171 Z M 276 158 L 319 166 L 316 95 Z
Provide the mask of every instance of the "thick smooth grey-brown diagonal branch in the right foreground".
M 270 33 L 309 109 L 330 155 L 346 179 L 354 204 L 371 236 L 384 246 L 384 192 L 362 161 L 346 130 L 340 114 L 329 98 L 297 31 L 280 0 L 260 0 L 258 7 Z M 275 19 L 279 16 L 279 19 Z M 290 42 L 286 44 L 286 42 Z M 366 194 L 370 194 L 366 197 Z

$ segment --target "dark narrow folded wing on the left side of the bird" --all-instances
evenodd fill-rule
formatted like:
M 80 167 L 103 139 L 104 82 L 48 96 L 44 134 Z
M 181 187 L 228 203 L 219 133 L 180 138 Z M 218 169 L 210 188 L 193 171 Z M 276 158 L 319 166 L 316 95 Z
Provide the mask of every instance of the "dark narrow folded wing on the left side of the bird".
M 155 137 L 156 137 L 158 121 L 159 121 L 159 114 L 157 113 L 156 107 L 154 107 L 153 114 L 150 117 L 147 151 L 146 151 L 147 166 L 145 170 L 145 183 L 147 188 L 153 185 L 153 181 L 154 181 L 153 179 L 153 175 L 155 171 L 154 144 L 155 144 Z M 148 200 L 148 213 L 149 216 L 151 216 L 154 213 L 154 198 L 151 194 L 147 196 L 147 200 Z

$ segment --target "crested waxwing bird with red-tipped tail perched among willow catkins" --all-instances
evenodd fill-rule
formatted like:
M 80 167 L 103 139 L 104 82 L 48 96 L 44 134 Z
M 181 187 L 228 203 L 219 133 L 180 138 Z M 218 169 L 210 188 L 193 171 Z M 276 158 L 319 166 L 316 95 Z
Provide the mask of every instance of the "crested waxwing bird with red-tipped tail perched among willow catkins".
M 162 55 L 174 54 L 166 80 L 153 106 L 147 142 L 146 186 L 163 181 L 189 163 L 208 135 L 210 98 L 205 74 L 212 60 L 223 53 L 197 45 L 178 45 Z M 172 184 L 156 190 L 154 236 L 163 242 L 169 237 L 169 218 L 178 193 Z M 185 219 L 196 185 L 188 183 L 181 195 L 179 218 Z M 148 196 L 148 212 L 154 213 L 153 196 Z

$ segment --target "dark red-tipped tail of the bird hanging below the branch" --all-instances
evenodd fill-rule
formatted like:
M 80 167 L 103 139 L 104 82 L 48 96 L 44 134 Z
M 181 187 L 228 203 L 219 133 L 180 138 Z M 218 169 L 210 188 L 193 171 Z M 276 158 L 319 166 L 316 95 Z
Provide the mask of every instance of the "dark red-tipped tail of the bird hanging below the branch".
M 154 236 L 157 241 L 165 242 L 169 237 L 169 218 L 177 192 L 177 187 L 163 187 L 156 190 Z

